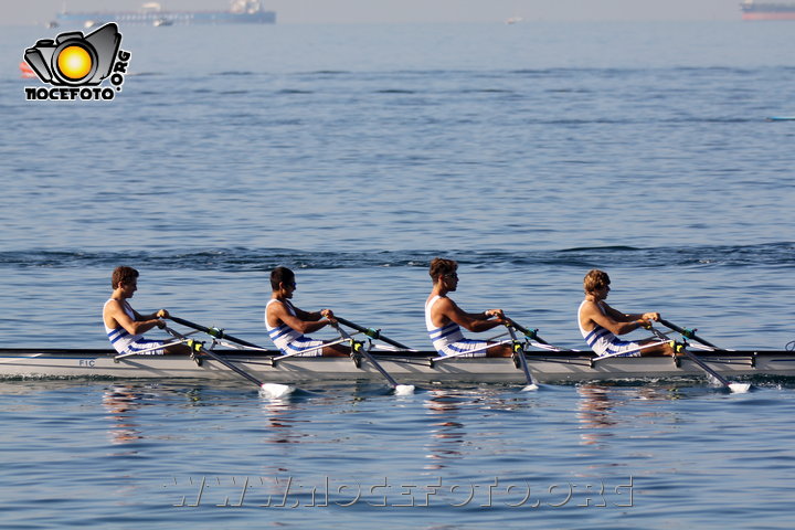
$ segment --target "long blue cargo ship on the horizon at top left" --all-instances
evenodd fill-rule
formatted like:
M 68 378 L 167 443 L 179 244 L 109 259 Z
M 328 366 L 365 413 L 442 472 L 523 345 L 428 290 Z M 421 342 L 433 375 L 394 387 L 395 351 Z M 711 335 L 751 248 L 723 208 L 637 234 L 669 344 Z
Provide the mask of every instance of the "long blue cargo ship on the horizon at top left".
M 140 11 L 63 11 L 55 17 L 59 25 L 92 28 L 105 22 L 119 24 L 273 24 L 274 11 L 265 11 L 259 0 L 233 0 L 229 11 L 167 11 L 159 3 L 145 3 Z

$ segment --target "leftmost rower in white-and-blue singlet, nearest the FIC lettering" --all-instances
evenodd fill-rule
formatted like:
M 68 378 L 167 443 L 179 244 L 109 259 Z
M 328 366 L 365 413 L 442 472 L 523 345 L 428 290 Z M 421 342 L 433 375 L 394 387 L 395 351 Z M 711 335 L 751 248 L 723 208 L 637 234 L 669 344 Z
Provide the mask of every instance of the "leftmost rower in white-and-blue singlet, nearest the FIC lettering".
M 123 356 L 149 354 L 162 356 L 165 353 L 189 354 L 190 348 L 184 344 L 167 344 L 161 340 L 145 339 L 144 333 L 153 329 L 166 327 L 163 318 L 169 314 L 166 309 L 141 315 L 130 306 L 129 298 L 138 290 L 139 273 L 132 267 L 116 267 L 110 277 L 113 294 L 103 307 L 105 332 L 114 349 Z

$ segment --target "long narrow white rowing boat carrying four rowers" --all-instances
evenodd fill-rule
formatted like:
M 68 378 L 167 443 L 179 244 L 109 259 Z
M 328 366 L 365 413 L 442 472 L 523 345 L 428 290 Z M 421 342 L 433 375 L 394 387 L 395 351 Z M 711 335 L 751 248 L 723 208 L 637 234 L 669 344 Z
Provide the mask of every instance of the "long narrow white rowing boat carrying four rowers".
M 380 380 L 382 373 L 360 359 L 294 357 L 274 361 L 277 351 L 213 350 L 205 356 L 131 356 L 115 359 L 104 349 L 0 349 L 0 378 L 117 378 L 232 380 L 229 363 L 265 382 Z M 522 367 L 511 358 L 455 358 L 434 361 L 436 352 L 373 353 L 399 381 L 522 383 Z M 703 378 L 691 359 L 679 357 L 613 357 L 596 360 L 593 352 L 526 351 L 527 365 L 541 383 Z M 795 352 L 787 350 L 716 350 L 699 359 L 727 378 L 795 377 Z

